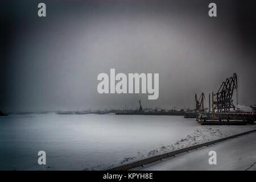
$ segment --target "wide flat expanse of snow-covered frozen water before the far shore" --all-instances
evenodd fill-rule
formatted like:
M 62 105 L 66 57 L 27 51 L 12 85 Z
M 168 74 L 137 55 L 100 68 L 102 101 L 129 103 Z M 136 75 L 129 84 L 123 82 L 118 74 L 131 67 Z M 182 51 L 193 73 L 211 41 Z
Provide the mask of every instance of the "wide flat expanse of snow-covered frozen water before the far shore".
M 202 127 L 181 116 L 9 115 L 0 117 L 0 169 L 107 169 Z M 46 151 L 46 165 L 38 164 L 38 151 Z

